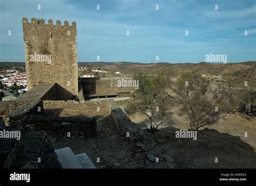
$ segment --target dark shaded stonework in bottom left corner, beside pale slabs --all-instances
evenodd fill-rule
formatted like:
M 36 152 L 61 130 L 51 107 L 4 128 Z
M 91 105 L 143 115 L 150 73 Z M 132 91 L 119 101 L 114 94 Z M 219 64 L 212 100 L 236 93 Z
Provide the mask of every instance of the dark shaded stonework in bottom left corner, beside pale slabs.
M 22 138 L 0 139 L 1 168 L 62 168 L 53 146 L 45 140 L 44 131 L 24 132 L 22 127 L 8 130 L 22 132 Z

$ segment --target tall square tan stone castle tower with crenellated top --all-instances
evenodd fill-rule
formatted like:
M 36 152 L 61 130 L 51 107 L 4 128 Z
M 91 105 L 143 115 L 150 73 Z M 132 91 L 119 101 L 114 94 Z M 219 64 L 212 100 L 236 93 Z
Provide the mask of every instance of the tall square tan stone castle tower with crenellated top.
M 37 84 L 57 83 L 58 99 L 78 96 L 76 22 L 61 25 L 51 19 L 23 18 L 24 52 L 28 90 Z

